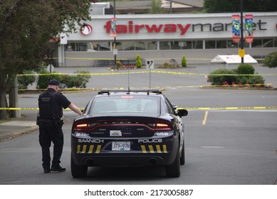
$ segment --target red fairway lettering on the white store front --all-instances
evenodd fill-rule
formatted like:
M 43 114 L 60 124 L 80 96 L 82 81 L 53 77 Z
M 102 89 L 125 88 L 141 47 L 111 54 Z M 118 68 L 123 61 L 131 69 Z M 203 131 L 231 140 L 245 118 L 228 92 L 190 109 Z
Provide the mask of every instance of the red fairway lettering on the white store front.
M 173 24 L 173 23 L 167 23 L 167 24 L 160 24 L 160 25 L 147 25 L 147 24 L 141 24 L 141 25 L 134 25 L 133 21 L 129 21 L 128 25 L 116 25 L 116 32 L 118 33 L 140 33 L 143 29 L 146 29 L 148 33 L 176 33 L 177 30 L 181 31 L 180 35 L 184 35 L 191 24 L 182 25 L 182 24 Z M 107 21 L 106 25 L 104 26 L 106 29 L 106 33 L 110 33 L 111 28 L 111 21 Z

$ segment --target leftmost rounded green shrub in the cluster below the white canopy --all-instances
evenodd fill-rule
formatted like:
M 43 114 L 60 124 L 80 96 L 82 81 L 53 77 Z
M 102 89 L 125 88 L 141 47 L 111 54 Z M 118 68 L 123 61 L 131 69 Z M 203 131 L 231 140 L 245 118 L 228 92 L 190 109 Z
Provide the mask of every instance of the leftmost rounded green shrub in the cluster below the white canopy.
M 209 81 L 211 85 L 226 85 L 227 83 L 231 85 L 233 82 L 236 82 L 236 72 L 230 69 L 219 68 L 210 73 Z

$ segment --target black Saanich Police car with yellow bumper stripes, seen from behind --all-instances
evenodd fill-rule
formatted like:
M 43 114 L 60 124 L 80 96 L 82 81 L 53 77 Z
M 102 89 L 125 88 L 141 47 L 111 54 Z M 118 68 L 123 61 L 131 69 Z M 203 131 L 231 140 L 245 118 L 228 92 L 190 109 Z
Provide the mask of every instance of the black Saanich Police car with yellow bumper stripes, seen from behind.
M 73 122 L 71 174 L 88 166 L 164 165 L 179 177 L 184 164 L 185 109 L 174 109 L 159 90 L 103 90 Z

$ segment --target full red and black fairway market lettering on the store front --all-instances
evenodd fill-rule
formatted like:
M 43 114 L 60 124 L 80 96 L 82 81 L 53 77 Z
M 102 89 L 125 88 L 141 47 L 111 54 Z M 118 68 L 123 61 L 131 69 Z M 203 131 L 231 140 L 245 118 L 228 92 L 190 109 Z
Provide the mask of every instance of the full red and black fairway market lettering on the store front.
M 230 19 L 231 21 L 231 19 Z M 267 28 L 263 26 L 266 22 L 262 22 L 261 19 L 257 23 L 253 23 L 254 31 L 256 29 L 261 31 L 266 31 Z M 147 31 L 147 33 L 180 33 L 184 36 L 185 33 L 192 28 L 192 32 L 219 32 L 219 31 L 231 31 L 232 23 L 165 23 L 165 24 L 134 24 L 134 21 L 128 21 L 127 25 L 117 24 L 116 32 L 118 33 L 142 33 Z M 104 25 L 106 33 L 111 33 L 111 21 L 107 21 Z

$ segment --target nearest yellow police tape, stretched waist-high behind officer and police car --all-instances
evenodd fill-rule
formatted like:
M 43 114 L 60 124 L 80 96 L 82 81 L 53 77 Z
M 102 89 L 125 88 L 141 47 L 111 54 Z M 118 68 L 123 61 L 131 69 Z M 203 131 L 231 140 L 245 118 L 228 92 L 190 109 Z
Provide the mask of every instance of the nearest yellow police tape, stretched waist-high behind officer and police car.
M 80 108 L 84 109 L 84 108 Z M 178 107 L 177 109 L 187 109 L 187 110 L 265 110 L 265 109 L 277 109 L 277 107 Z M 22 107 L 0 107 L 0 110 L 39 110 L 39 108 L 22 108 Z M 65 109 L 70 110 L 69 108 Z

